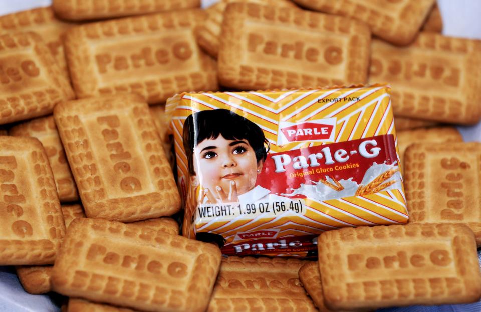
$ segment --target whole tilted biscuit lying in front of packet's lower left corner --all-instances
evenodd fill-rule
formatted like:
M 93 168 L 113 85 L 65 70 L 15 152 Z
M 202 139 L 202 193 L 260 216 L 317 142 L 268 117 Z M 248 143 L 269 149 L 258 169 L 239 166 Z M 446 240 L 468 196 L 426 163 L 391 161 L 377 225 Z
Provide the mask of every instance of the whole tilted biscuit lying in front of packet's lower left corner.
M 221 254 L 213 244 L 103 219 L 76 219 L 52 270 L 56 292 L 139 310 L 204 311 Z

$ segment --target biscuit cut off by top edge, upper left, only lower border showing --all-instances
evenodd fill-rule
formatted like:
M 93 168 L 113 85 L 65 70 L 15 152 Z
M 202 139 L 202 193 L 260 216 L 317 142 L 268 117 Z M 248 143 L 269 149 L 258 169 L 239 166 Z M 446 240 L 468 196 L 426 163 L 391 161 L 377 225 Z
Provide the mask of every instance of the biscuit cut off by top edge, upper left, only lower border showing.
M 95 20 L 200 7 L 200 0 L 53 0 L 55 13 L 66 20 Z

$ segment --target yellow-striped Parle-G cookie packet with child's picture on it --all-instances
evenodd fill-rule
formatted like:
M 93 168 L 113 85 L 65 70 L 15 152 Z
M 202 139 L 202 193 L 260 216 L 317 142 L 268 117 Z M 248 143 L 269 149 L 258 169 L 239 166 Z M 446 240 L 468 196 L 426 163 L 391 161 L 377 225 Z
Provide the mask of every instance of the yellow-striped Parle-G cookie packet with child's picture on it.
M 182 233 L 224 255 L 314 256 L 324 231 L 408 221 L 387 85 L 182 93 L 166 113 Z

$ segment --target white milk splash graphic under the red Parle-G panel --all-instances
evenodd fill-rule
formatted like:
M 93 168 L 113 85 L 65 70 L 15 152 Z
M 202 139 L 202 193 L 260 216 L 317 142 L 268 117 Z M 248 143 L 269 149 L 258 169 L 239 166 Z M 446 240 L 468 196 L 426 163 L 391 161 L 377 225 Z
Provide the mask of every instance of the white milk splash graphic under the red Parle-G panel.
M 392 185 L 382 189 L 383 191 L 391 190 L 391 189 L 400 189 L 401 188 L 401 174 L 399 173 L 399 166 L 397 166 L 397 161 L 391 165 L 387 165 L 386 162 L 382 164 L 377 164 L 374 162 L 369 169 L 366 170 L 364 177 L 362 178 L 361 184 L 357 184 L 356 181 L 353 181 L 353 178 L 349 178 L 347 180 L 339 180 L 338 183 L 343 187 L 342 190 L 336 191 L 331 187 L 325 185 L 321 181 L 311 181 L 314 184 L 304 184 L 301 183 L 299 188 L 291 190 L 293 191 L 290 194 L 281 194 L 282 196 L 292 197 L 295 195 L 303 195 L 309 199 L 313 199 L 316 201 L 324 201 L 329 199 L 341 199 L 343 197 L 352 197 L 356 196 L 356 191 L 360 186 L 366 186 L 369 183 L 373 182 L 377 177 L 388 170 L 397 170 L 389 179 L 384 181 L 386 183 L 388 181 L 395 181 Z M 335 181 L 329 177 L 325 176 L 327 182 L 331 184 L 336 184 Z

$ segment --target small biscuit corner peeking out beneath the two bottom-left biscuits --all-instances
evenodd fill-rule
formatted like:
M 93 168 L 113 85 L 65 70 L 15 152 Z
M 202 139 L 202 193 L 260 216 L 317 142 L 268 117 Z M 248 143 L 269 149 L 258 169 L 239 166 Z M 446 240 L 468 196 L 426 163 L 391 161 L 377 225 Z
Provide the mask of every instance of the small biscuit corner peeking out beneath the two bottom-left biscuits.
M 17 266 L 17 276 L 22 287 L 31 294 L 42 294 L 52 290 L 50 274 L 52 265 L 45 266 Z

